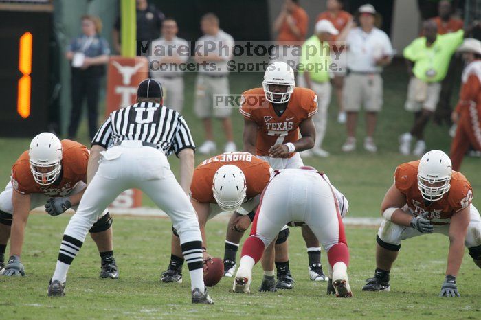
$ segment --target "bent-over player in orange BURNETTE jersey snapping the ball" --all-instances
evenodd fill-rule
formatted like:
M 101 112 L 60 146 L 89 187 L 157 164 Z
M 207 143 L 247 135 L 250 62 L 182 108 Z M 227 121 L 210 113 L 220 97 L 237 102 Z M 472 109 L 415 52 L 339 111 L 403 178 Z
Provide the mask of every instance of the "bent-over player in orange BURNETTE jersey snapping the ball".
M 254 220 L 260 194 L 271 179 L 269 163 L 258 159 L 248 152 L 228 152 L 206 159 L 197 166 L 192 176 L 190 187 L 190 202 L 199 218 L 199 225 L 205 250 L 204 258 L 210 258 L 207 253 L 205 224 L 221 212 L 232 212 L 227 225 L 227 235 L 224 251 L 224 276 L 232 277 L 236 269 L 236 253 L 244 231 Z M 162 282 L 182 282 L 183 256 L 179 236 L 175 229 L 172 234 L 172 254 L 168 269 L 161 275 Z M 289 229 L 284 227 L 273 245 L 278 251 L 280 246 L 287 245 Z M 273 268 L 273 245 L 266 249 L 262 266 L 266 271 Z M 261 291 L 274 291 L 276 282 L 273 274 L 265 279 L 260 286 Z

